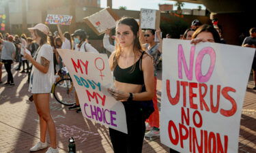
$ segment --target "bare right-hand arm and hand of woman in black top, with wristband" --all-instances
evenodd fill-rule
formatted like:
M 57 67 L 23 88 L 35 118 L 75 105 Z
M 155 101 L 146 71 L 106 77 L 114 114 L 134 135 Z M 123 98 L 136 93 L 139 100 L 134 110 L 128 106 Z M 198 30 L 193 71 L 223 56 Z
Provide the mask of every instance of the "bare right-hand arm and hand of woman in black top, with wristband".
M 144 77 L 145 92 L 132 93 L 133 101 L 150 101 L 154 97 L 154 84 L 152 84 L 152 82 L 154 82 L 154 66 L 153 60 L 150 56 L 145 55 L 145 57 L 143 57 L 142 71 Z M 123 92 L 112 88 L 109 88 L 109 93 L 113 95 L 117 101 L 126 101 L 130 97 L 129 92 Z

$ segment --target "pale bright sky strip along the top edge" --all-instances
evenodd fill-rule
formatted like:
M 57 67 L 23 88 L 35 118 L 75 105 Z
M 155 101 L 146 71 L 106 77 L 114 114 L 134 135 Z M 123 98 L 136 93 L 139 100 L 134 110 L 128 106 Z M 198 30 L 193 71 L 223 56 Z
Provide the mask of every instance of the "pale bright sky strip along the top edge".
M 141 8 L 155 9 L 158 10 L 158 4 L 173 4 L 173 10 L 176 10 L 177 7 L 174 6 L 176 1 L 168 0 L 112 0 L 112 7 L 118 9 L 119 6 L 126 6 L 127 10 L 141 10 Z M 185 3 L 184 7 L 188 9 L 197 9 L 197 3 Z M 205 10 L 205 6 L 202 6 L 202 10 Z M 100 7 L 106 7 L 106 0 L 100 0 Z

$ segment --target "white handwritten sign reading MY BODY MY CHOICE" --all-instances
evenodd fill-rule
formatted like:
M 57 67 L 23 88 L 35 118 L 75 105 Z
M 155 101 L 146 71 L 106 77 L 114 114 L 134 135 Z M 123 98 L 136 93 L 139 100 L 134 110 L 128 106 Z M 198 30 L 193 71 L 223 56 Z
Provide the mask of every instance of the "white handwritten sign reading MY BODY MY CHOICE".
M 124 105 L 107 92 L 113 78 L 106 54 L 59 50 L 68 68 L 85 118 L 127 133 Z

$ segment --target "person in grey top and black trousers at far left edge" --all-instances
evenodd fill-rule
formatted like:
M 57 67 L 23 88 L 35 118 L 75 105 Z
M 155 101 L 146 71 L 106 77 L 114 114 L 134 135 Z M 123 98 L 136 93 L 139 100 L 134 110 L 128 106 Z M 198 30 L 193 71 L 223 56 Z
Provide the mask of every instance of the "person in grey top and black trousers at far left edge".
M 12 35 L 8 35 L 8 41 L 5 41 L 0 38 L 0 43 L 3 45 L 1 52 L 1 61 L 5 65 L 5 69 L 8 73 L 8 80 L 5 86 L 14 86 L 14 78 L 12 76 L 12 63 L 15 57 L 15 46 L 12 43 L 14 37 Z

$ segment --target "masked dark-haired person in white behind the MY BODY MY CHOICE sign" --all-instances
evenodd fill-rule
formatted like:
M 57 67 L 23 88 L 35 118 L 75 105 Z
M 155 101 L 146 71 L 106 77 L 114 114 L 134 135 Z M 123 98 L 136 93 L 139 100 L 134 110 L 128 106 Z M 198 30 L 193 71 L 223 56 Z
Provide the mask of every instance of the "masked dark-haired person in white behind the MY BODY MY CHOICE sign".
M 74 46 L 74 50 L 79 51 L 79 52 L 94 52 L 98 53 L 98 50 L 96 50 L 91 44 L 87 43 L 87 33 L 85 33 L 84 30 L 78 29 L 74 31 L 72 34 L 74 37 L 74 43 L 76 44 Z M 75 92 L 75 99 L 76 99 L 76 104 L 72 105 L 71 107 L 68 107 L 68 109 L 73 110 L 77 109 L 76 113 L 81 113 L 81 107 L 79 104 L 79 98 L 77 97 L 77 94 Z

